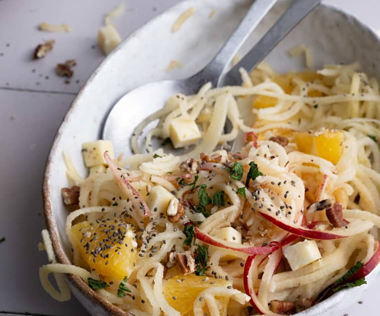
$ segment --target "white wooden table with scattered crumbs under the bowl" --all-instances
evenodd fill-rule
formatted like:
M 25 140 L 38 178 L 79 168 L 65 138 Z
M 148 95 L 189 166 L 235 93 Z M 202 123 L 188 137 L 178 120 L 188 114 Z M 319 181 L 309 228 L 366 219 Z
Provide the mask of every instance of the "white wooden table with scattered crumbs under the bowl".
M 116 21 L 123 37 L 178 0 L 126 0 Z M 380 29 L 379 0 L 326 0 Z M 37 251 L 42 216 L 41 182 L 54 134 L 75 94 L 104 56 L 96 45 L 104 14 L 120 0 L 0 0 L 0 315 L 88 315 L 73 297 L 55 302 L 42 289 Z M 71 33 L 37 30 L 41 22 L 67 23 Z M 46 58 L 33 49 L 54 39 Z M 56 63 L 76 59 L 69 84 L 54 74 Z M 96 106 L 96 104 L 94 104 Z M 380 280 L 379 280 L 380 281 Z M 350 316 L 378 316 L 377 285 L 347 309 Z M 342 316 L 344 315 L 342 313 Z

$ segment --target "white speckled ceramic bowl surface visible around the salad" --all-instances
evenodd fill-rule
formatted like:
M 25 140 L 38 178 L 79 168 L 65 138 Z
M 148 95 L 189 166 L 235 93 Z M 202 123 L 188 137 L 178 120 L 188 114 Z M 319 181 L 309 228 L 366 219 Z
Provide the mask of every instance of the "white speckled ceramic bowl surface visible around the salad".
M 60 126 L 46 165 L 43 198 L 46 226 L 53 241 L 57 262 L 69 264 L 71 247 L 64 233 L 68 210 L 62 204 L 60 188 L 67 186 L 62 151 L 68 150 L 80 174 L 86 169 L 81 157 L 81 143 L 100 137 L 102 122 L 111 106 L 128 90 L 147 82 L 184 78 L 208 63 L 218 48 L 237 25 L 250 1 L 186 0 L 167 10 L 127 38 L 90 77 L 72 103 Z M 173 21 L 190 6 L 196 14 L 172 34 Z M 286 7 L 280 1 L 249 38 L 241 52 L 251 47 Z M 213 18 L 209 18 L 216 9 Z M 279 72 L 300 70 L 301 57 L 290 58 L 286 51 L 294 45 L 304 44 L 314 53 L 316 67 L 325 63 L 359 61 L 365 72 L 380 78 L 380 41 L 377 35 L 352 16 L 330 6 L 315 9 L 278 45 L 266 61 Z M 165 72 L 170 60 L 183 62 L 183 67 Z M 156 109 L 151 110 L 151 112 Z M 126 124 L 135 125 L 148 113 L 131 105 L 131 116 Z M 129 153 L 129 149 L 125 149 Z M 368 277 L 375 282 L 380 267 Z M 379 278 L 378 278 L 379 280 Z M 79 277 L 67 275 L 72 293 L 92 315 L 130 315 L 92 291 Z M 340 291 L 298 315 L 337 315 L 357 301 L 366 286 Z

